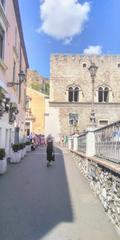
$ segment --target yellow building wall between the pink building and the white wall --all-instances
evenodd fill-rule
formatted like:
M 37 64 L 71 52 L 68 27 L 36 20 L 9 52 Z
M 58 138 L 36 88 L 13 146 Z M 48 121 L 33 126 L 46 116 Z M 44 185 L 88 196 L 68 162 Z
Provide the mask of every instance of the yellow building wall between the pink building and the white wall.
M 27 88 L 27 96 L 31 98 L 30 108 L 35 121 L 32 122 L 32 132 L 36 134 L 45 133 L 45 97 L 31 88 Z

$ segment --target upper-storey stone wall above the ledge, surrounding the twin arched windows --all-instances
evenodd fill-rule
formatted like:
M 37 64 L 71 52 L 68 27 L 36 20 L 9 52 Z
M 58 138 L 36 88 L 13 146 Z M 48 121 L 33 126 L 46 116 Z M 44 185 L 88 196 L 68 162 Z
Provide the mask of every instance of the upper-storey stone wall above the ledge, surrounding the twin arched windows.
M 79 85 L 80 100 L 91 102 L 92 81 L 88 68 L 91 61 L 98 66 L 95 78 L 95 101 L 97 89 L 106 85 L 110 89 L 109 102 L 120 102 L 120 56 L 52 55 L 50 69 L 51 101 L 66 101 L 67 88 Z M 59 86 L 59 87 L 58 87 Z

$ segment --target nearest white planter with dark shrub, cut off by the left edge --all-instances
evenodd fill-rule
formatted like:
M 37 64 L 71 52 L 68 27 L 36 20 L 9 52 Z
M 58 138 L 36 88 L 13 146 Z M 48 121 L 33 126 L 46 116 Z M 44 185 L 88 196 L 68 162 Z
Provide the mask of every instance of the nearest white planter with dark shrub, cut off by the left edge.
M 0 174 L 4 174 L 7 170 L 7 160 L 5 157 L 5 149 L 0 148 Z

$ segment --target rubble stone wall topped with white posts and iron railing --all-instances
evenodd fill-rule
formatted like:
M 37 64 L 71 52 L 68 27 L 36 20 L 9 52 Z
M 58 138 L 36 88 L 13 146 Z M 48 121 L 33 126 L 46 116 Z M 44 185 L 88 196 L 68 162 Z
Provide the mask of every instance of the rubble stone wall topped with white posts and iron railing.
M 70 137 L 69 149 L 120 233 L 120 121 Z

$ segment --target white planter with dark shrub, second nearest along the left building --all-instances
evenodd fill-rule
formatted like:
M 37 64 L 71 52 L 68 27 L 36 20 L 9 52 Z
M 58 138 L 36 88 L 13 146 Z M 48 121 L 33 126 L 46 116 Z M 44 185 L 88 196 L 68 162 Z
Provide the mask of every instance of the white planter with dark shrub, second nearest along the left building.
M 21 160 L 20 144 L 12 144 L 12 155 L 10 162 L 18 163 Z

